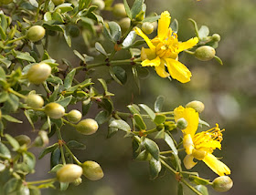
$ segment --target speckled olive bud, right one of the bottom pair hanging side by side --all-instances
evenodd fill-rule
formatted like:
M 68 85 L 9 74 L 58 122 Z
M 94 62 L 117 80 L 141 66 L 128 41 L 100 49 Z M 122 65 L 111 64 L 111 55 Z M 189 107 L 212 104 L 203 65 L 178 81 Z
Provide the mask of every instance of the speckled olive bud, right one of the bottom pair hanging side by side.
M 81 167 L 83 175 L 89 180 L 101 180 L 104 176 L 103 170 L 97 162 L 85 161 Z

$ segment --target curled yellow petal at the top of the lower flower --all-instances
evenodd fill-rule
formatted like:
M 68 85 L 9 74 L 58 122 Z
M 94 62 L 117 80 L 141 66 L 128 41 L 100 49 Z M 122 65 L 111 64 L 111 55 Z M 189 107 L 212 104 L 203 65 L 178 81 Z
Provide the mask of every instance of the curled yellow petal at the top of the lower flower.
M 179 106 L 175 108 L 175 120 L 177 121 L 179 118 L 185 118 L 187 120 L 187 128 L 183 130 L 185 134 L 190 134 L 193 138 L 198 127 L 199 116 L 195 109 L 193 108 L 184 108 Z

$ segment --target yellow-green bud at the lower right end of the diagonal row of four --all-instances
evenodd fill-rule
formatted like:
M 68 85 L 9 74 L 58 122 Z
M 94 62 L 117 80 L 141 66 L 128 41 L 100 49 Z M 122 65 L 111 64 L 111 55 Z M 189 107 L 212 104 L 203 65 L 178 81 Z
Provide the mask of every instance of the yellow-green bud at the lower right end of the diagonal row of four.
M 91 135 L 98 130 L 99 126 L 94 119 L 87 118 L 81 120 L 76 128 L 83 135 Z

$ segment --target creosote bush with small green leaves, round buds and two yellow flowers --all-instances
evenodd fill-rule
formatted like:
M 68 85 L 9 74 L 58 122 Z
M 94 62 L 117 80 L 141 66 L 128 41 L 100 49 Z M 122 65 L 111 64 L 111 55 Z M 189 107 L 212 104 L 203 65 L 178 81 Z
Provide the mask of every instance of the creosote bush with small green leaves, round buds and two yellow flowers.
M 103 17 L 102 11 L 109 12 L 114 19 Z M 159 96 L 155 108 L 133 103 L 119 110 L 109 90 L 113 82 L 125 85 L 128 77 L 134 80 L 134 88 L 140 90 L 139 72 L 144 70 L 148 76 L 150 68 L 155 70 L 151 77 L 189 82 L 192 73 L 178 58 L 182 52 L 195 56 L 195 60 L 214 58 L 222 65 L 216 56 L 219 34 L 210 36 L 208 26 L 199 27 L 196 21 L 190 21 L 191 38 L 181 41 L 177 20 L 171 20 L 168 11 L 147 15 L 144 0 L 134 0 L 133 5 L 126 0 L 1 1 L 0 178 L 4 183 L 0 185 L 0 194 L 37 195 L 41 189 L 67 190 L 69 185 L 87 182 L 84 177 L 101 180 L 104 164 L 93 159 L 81 163 L 84 158 L 76 156 L 73 149 L 85 149 L 84 143 L 64 140 L 62 134 L 66 132 L 61 129 L 69 126 L 70 131 L 86 137 L 105 130 L 101 129 L 105 123 L 108 139 L 123 133 L 123 139 L 131 140 L 133 158 L 148 164 L 151 179 L 156 179 L 163 168 L 173 174 L 178 194 L 184 193 L 183 186 L 198 195 L 208 194 L 208 186 L 218 191 L 229 190 L 232 180 L 225 175 L 230 174 L 230 169 L 213 154 L 215 149 L 221 149 L 224 129 L 219 124 L 210 128 L 199 116 L 205 109 L 202 102 L 195 100 L 186 107 L 176 105 L 174 109 L 163 110 L 165 98 Z M 80 62 L 71 64 L 66 56 L 50 56 L 49 36 L 63 39 L 73 50 L 70 55 Z M 74 38 L 83 40 L 83 53 L 78 51 Z M 122 51 L 126 54 L 123 58 Z M 192 60 L 190 63 L 195 64 Z M 92 70 L 97 72 L 98 67 L 105 68 L 109 78 L 92 78 Z M 126 73 L 128 69 L 132 75 Z M 80 72 L 85 73 L 82 79 L 77 76 Z M 100 109 L 94 118 L 92 104 Z M 71 105 L 81 111 L 66 112 Z M 37 133 L 36 139 L 23 135 L 22 130 L 16 132 L 16 137 L 10 135 L 9 123 L 23 123 L 15 117 L 17 113 L 25 115 L 31 130 Z M 208 130 L 197 131 L 203 126 Z M 182 139 L 174 139 L 174 132 L 179 132 Z M 56 138 L 55 143 L 49 142 Z M 164 151 L 155 139 L 163 139 L 168 150 Z M 32 148 L 41 149 L 38 159 Z M 37 173 L 37 160 L 48 153 L 49 179 L 27 179 L 27 175 Z M 190 171 L 200 161 L 219 178 L 210 182 Z

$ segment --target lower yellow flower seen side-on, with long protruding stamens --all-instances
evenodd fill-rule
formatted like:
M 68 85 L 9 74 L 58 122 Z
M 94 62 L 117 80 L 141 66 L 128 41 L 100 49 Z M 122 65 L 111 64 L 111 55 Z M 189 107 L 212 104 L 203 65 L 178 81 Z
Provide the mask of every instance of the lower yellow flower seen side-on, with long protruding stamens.
M 197 162 L 193 159 L 203 160 L 210 169 L 219 176 L 230 174 L 227 165 L 217 159 L 212 153 L 214 149 L 221 149 L 222 131 L 219 125 L 196 134 L 198 126 L 198 113 L 193 108 L 178 107 L 175 110 L 175 120 L 185 118 L 187 128 L 183 130 L 183 146 L 186 149 L 187 156 L 183 160 L 187 169 L 192 169 Z

